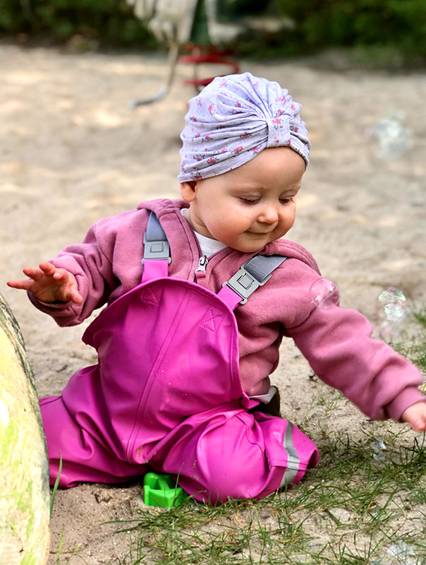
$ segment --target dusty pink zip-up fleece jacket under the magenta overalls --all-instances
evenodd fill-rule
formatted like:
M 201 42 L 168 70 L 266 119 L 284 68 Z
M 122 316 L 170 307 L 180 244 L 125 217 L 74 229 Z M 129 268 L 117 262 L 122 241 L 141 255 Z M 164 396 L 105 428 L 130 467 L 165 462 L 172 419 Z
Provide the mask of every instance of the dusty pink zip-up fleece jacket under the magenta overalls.
M 99 220 L 82 244 L 66 247 L 51 261 L 75 275 L 83 304 L 46 304 L 33 295 L 31 301 L 59 326 L 73 326 L 138 285 L 149 210 L 156 213 L 171 246 L 170 276 L 196 280 L 218 292 L 253 254 L 226 247 L 209 258 L 205 273 L 195 273 L 200 247 L 181 214 L 181 208 L 186 206 L 184 201 L 159 199 Z M 285 335 L 293 338 L 322 381 L 338 388 L 374 420 L 399 420 L 408 406 L 425 400 L 418 390 L 422 383 L 420 371 L 382 340 L 372 339 L 370 323 L 362 314 L 338 306 L 313 307 L 310 287 L 320 275 L 308 251 L 278 239 L 259 254 L 281 254 L 288 259 L 246 304 L 235 310 L 241 383 L 249 396 L 269 391 L 269 374 L 276 369 L 279 345 Z

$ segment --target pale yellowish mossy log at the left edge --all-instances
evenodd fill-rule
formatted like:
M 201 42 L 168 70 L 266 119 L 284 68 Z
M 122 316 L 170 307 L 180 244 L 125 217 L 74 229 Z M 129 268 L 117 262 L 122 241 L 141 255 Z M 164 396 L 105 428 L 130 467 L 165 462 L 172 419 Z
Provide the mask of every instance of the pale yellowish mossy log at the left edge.
M 44 565 L 49 465 L 23 336 L 0 295 L 0 565 Z

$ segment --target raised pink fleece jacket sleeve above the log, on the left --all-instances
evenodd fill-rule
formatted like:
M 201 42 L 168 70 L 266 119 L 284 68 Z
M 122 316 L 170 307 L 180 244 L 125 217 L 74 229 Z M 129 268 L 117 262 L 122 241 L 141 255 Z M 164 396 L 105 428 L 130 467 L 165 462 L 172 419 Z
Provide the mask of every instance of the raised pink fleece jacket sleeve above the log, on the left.
M 67 246 L 50 261 L 75 276 L 78 292 L 83 297 L 82 304 L 42 302 L 28 292 L 32 304 L 49 314 L 59 326 L 75 326 L 108 302 L 111 293 L 117 294 L 118 287 L 123 287 L 123 292 L 128 290 L 126 280 L 121 279 L 129 277 L 128 273 L 135 270 L 133 264 L 140 266 L 142 235 L 139 237 L 139 233 L 145 231 L 146 220 L 145 210 L 99 220 L 87 232 L 83 243 Z M 138 276 L 140 273 L 133 281 L 136 284 Z

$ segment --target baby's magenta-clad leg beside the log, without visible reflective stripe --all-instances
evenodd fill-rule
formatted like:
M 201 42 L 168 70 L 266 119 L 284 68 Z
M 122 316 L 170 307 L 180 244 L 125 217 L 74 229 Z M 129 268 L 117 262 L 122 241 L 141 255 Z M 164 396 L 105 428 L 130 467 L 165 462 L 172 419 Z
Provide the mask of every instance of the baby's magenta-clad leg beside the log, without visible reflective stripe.
M 145 475 L 146 465 L 131 465 L 88 434 L 71 417 L 61 396 L 40 400 L 40 410 L 49 456 L 50 484 L 54 484 L 62 459 L 60 487 L 74 487 L 79 482 L 125 482 Z

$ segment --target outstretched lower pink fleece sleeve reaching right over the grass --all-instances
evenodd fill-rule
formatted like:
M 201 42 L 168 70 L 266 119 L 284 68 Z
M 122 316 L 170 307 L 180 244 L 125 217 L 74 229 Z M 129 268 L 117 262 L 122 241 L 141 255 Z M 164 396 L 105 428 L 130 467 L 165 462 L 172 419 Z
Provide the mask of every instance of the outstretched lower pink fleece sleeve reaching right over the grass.
M 286 333 L 319 379 L 373 420 L 399 420 L 410 405 L 426 400 L 418 390 L 420 371 L 387 343 L 373 339 L 370 323 L 358 311 L 317 307 Z

